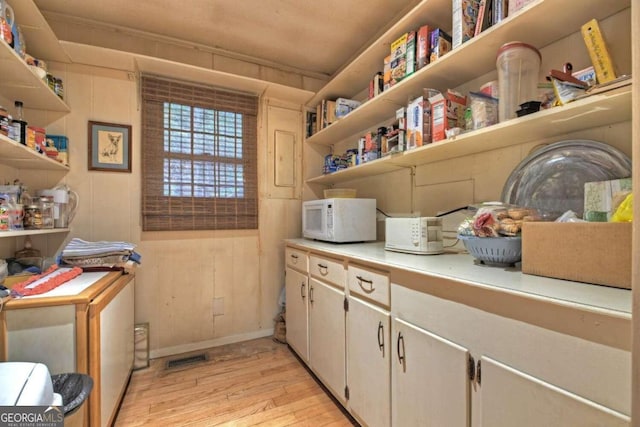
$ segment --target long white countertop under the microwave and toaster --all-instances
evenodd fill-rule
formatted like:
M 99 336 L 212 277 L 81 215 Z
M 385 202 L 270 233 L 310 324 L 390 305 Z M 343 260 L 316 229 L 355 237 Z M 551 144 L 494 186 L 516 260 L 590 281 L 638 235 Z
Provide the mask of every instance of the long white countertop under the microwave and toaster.
M 308 239 L 287 239 L 285 242 L 309 250 L 352 258 L 354 261 L 361 260 L 476 286 L 499 288 L 505 292 L 564 305 L 579 305 L 585 309 L 607 311 L 612 315 L 631 318 L 632 298 L 628 289 L 523 274 L 519 264 L 515 268 L 486 266 L 477 264 L 467 253 L 403 254 L 386 251 L 384 242 L 333 244 Z

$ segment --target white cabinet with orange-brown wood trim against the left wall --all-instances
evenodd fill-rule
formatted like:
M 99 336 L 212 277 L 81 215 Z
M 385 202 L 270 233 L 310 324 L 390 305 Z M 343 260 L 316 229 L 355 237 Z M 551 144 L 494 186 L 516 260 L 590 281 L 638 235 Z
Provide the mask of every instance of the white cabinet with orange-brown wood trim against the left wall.
M 80 289 L 80 291 L 78 291 Z M 134 277 L 83 273 L 57 295 L 12 299 L 0 311 L 0 361 L 44 363 L 93 379 L 83 405 L 91 426 L 113 422 L 134 355 Z

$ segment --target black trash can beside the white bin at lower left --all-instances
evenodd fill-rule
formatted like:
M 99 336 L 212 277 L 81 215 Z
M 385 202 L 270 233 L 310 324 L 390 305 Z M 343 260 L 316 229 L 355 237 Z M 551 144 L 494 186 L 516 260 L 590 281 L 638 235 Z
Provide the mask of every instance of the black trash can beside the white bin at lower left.
M 93 379 L 89 375 L 70 373 L 52 375 L 51 381 L 53 382 L 53 392 L 62 396 L 65 427 L 82 426 L 84 411 L 81 411 L 80 408 L 91 393 Z

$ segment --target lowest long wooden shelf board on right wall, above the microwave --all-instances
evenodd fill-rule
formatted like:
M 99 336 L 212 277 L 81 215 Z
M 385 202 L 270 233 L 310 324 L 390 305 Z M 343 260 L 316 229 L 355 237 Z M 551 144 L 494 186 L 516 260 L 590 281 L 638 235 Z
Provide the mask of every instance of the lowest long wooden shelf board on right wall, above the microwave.
M 314 177 L 306 182 L 334 184 L 629 120 L 631 85 Z

